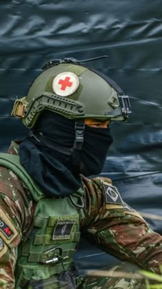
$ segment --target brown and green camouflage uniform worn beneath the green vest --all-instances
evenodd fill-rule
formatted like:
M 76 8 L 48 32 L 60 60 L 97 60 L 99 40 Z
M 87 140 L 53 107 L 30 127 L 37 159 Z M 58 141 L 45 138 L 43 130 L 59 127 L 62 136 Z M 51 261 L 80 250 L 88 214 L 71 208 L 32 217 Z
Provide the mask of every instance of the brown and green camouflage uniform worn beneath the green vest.
M 9 153 L 18 154 L 18 148 L 12 142 Z M 126 204 L 108 204 L 104 182 L 111 184 L 107 178 L 82 177 L 86 204 L 80 224 L 83 236 L 119 259 L 159 272 L 162 237 Z M 14 288 L 17 246 L 30 230 L 36 204 L 21 180 L 4 167 L 0 167 L 0 191 L 0 288 Z M 124 278 L 85 277 L 82 288 L 141 288 L 133 287 L 133 282 L 139 281 L 131 282 L 128 285 Z

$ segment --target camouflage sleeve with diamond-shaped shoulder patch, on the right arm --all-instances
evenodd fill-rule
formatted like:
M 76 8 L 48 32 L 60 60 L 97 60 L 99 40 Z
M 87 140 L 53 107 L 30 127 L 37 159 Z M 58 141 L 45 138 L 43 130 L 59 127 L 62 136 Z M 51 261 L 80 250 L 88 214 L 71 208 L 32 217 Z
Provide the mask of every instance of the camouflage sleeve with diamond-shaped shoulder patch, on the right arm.
M 162 237 L 122 201 L 106 178 L 83 179 L 86 191 L 84 237 L 115 257 L 159 272 Z

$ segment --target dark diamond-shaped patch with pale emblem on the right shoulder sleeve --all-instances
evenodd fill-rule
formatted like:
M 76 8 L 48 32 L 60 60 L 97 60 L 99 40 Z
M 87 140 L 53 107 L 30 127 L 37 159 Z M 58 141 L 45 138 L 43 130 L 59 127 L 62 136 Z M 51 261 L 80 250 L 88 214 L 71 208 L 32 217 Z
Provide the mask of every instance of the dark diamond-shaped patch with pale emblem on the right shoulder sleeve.
M 120 196 L 117 188 L 108 183 L 103 183 L 106 204 L 123 204 L 122 197 Z

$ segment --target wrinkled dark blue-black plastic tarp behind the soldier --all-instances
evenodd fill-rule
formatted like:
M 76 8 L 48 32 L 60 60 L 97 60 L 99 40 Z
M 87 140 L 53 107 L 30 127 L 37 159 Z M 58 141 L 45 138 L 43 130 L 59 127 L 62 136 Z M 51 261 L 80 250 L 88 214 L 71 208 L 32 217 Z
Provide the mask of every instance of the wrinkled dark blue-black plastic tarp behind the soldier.
M 0 149 L 27 133 L 10 117 L 13 102 L 27 94 L 46 61 L 108 55 L 89 65 L 113 78 L 130 96 L 132 116 L 112 123 L 114 143 L 102 175 L 114 180 L 123 199 L 143 213 L 162 215 L 161 1 L 1 0 Z M 162 233 L 161 221 L 148 218 Z M 81 268 L 107 264 L 87 243 Z

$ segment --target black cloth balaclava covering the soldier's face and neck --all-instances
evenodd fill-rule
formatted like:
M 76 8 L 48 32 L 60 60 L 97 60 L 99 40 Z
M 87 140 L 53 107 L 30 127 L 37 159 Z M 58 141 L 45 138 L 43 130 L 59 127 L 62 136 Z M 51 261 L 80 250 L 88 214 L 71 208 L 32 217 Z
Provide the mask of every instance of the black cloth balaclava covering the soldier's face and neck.
M 108 147 L 113 142 L 110 129 L 85 125 L 79 167 L 73 158 L 75 138 L 75 120 L 43 111 L 30 136 L 21 142 L 21 164 L 45 195 L 71 195 L 81 186 L 80 173 L 89 176 L 102 171 Z

